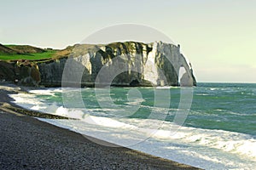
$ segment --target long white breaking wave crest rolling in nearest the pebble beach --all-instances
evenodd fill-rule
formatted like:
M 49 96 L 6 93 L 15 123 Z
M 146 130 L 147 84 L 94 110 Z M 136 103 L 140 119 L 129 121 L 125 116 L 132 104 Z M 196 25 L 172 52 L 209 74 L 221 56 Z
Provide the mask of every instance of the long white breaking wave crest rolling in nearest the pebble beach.
M 131 131 L 135 131 L 137 135 L 143 134 L 143 136 L 154 139 L 166 141 L 178 139 L 186 144 L 199 144 L 201 146 L 207 146 L 209 148 L 256 159 L 256 139 L 248 134 L 195 127 L 180 127 L 172 122 L 153 119 L 90 116 L 90 114 L 85 114 L 84 111 L 66 109 L 62 106 L 55 111 L 55 114 L 77 118 L 81 122 L 99 127 L 114 127 L 118 128 L 116 130 L 126 130 L 128 134 L 131 133 Z M 112 135 L 114 135 L 114 133 Z

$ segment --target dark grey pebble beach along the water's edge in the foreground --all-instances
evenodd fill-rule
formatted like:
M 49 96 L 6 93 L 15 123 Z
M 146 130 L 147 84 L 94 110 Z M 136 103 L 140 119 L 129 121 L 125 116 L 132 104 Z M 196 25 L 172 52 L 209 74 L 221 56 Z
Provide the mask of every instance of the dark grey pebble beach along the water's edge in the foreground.
M 11 103 L 8 94 L 26 89 L 8 83 L 0 85 L 5 87 L 0 88 L 1 169 L 198 169 L 121 146 L 96 144 L 82 134 L 41 122 L 26 114 L 33 111 Z

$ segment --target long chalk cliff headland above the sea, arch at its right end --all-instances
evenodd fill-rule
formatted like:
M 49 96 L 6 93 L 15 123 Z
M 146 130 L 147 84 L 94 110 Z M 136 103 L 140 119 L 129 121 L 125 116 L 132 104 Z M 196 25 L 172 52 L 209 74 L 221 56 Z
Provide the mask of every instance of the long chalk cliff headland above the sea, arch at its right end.
M 190 63 L 179 46 L 165 42 L 77 44 L 69 53 L 48 61 L 20 65 L 27 69 L 20 83 L 44 86 L 195 86 Z M 61 52 L 60 52 L 61 54 Z M 16 64 L 17 65 L 17 64 Z M 17 66 L 15 66 L 17 69 Z M 23 68 L 23 69 L 21 69 Z

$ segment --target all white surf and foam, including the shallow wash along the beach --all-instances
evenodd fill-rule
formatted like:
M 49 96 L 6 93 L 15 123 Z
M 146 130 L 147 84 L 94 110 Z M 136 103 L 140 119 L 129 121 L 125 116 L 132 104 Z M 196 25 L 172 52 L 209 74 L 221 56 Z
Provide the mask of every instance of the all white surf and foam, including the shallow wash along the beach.
M 209 166 L 212 162 L 216 163 L 213 164 L 214 166 L 222 164 L 221 166 L 219 165 L 219 168 L 249 167 L 248 162 L 254 162 L 252 167 L 255 165 L 256 137 L 253 135 L 199 127 L 181 127 L 173 122 L 166 122 L 165 119 L 116 117 L 115 114 L 111 115 L 109 112 L 121 112 L 121 110 L 113 107 L 102 109 L 96 107 L 96 105 L 90 105 L 90 108 L 65 108 L 60 103 L 46 102 L 44 99 L 38 98 L 38 95 L 52 96 L 63 92 L 61 90 L 63 89 L 33 90 L 30 92 L 31 94 L 11 94 L 10 96 L 15 99 L 17 105 L 23 106 L 26 109 L 44 110 L 50 114 L 79 119 L 40 119 L 41 121 L 66 127 L 75 132 L 107 140 L 114 144 L 146 151 L 156 156 L 172 160 L 177 158 L 177 161 L 189 163 L 190 165 L 195 165 L 195 162 L 198 162 L 200 165 L 203 164 L 202 168 L 211 168 Z M 73 93 L 79 92 L 76 88 L 64 90 L 68 92 L 73 90 Z M 94 91 L 92 88 L 84 88 L 83 90 L 86 92 Z M 217 89 L 212 90 L 218 91 Z M 199 94 L 204 94 L 204 92 Z M 107 99 L 104 97 L 102 95 L 101 101 Z M 125 102 L 125 100 L 123 101 Z M 141 102 L 144 102 L 144 100 L 132 100 L 130 103 L 127 102 L 126 105 L 137 105 Z M 157 111 L 160 115 L 164 116 L 166 116 L 166 113 L 173 115 L 176 111 L 179 111 L 178 109 L 160 108 L 150 105 L 140 105 L 140 107 L 146 111 L 147 109 Z M 216 109 L 214 111 L 218 115 L 218 112 L 224 112 L 225 110 Z M 244 116 L 244 114 L 232 111 L 225 112 L 235 116 Z M 191 111 L 190 114 L 204 116 L 207 113 L 204 111 Z M 142 142 L 145 142 L 145 144 L 141 144 Z M 147 144 L 148 146 L 146 146 Z M 172 153 L 176 155 L 172 155 L 171 152 L 166 153 L 166 150 L 172 150 Z M 177 154 L 181 155 L 177 156 Z M 202 163 L 202 160 L 204 163 Z

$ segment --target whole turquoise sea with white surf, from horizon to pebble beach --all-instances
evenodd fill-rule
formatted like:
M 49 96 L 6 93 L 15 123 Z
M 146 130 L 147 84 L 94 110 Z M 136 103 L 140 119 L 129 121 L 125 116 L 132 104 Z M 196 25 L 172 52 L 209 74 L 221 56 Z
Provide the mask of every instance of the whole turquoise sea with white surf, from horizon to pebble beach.
M 256 167 L 253 83 L 201 82 L 193 88 L 40 88 L 10 96 L 26 109 L 68 116 L 67 120 L 38 119 L 84 134 L 84 138 L 204 169 Z

